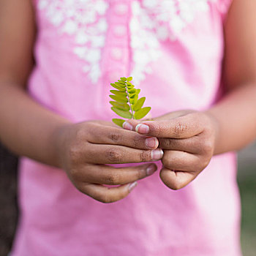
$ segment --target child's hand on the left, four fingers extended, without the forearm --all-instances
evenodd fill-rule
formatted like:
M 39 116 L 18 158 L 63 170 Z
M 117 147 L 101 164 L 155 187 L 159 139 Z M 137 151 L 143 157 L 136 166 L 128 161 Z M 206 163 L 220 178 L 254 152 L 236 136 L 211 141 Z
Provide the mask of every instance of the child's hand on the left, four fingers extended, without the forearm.
M 80 192 L 102 203 L 121 200 L 137 180 L 157 170 L 153 163 L 130 167 L 105 164 L 151 162 L 163 155 L 157 148 L 157 138 L 120 129 L 107 121 L 70 124 L 62 127 L 57 137 L 60 167 Z M 109 188 L 103 184 L 121 186 Z

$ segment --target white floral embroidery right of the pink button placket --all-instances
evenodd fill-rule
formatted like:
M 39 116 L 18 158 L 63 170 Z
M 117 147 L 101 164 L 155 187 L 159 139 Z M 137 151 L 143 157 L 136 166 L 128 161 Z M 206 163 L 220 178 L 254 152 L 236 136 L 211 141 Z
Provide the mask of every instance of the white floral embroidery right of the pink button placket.
M 151 73 L 150 65 L 162 55 L 160 42 L 174 41 L 215 0 L 141 0 L 132 2 L 132 76 L 138 84 Z

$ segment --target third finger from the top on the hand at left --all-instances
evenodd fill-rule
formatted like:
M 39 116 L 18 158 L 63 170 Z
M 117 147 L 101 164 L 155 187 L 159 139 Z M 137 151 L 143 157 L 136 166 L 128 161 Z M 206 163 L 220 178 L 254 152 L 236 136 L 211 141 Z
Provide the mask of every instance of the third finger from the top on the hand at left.
M 86 170 L 90 171 L 80 172 L 76 177 L 79 181 L 94 184 L 120 185 L 151 176 L 157 170 L 157 165 L 148 164 L 129 167 L 87 165 Z

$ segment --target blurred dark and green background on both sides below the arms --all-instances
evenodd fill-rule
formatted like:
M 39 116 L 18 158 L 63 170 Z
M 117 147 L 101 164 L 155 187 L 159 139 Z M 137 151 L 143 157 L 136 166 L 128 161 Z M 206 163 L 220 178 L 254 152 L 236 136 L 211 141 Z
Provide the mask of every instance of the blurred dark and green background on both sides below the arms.
M 7 256 L 10 250 L 18 219 L 17 164 L 17 159 L 0 145 L 0 256 Z M 238 154 L 238 186 L 242 206 L 241 246 L 244 256 L 255 256 L 256 143 Z

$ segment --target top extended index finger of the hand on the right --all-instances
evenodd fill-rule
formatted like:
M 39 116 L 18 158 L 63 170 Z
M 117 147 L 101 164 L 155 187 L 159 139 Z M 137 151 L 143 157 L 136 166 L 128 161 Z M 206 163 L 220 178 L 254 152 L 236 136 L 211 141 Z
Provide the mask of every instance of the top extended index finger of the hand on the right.
M 157 138 L 191 138 L 203 132 L 203 120 L 197 113 L 167 121 L 143 121 L 135 127 L 136 132 Z

